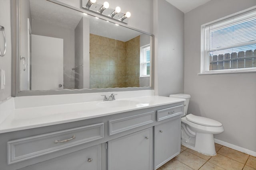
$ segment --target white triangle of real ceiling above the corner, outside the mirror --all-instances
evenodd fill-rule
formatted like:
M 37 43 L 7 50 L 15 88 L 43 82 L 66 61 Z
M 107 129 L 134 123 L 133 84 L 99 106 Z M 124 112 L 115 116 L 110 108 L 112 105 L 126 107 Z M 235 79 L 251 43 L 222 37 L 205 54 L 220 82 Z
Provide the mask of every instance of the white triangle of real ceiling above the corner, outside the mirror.
M 210 0 L 166 0 L 182 12 L 186 13 Z

